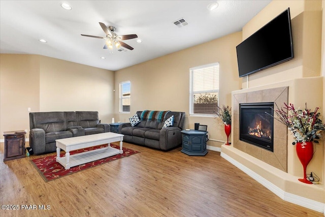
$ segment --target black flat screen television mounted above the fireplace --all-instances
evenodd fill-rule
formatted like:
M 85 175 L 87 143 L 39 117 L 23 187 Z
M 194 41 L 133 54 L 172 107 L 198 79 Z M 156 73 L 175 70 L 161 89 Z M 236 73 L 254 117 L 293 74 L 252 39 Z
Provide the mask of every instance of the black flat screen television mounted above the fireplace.
M 287 8 L 237 47 L 239 77 L 294 58 L 290 9 Z

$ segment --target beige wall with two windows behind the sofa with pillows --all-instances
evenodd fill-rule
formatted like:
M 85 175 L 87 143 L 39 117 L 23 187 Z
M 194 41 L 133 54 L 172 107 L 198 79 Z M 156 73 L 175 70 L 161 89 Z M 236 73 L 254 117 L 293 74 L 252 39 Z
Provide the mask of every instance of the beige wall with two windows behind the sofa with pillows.
M 136 111 L 172 110 L 186 112 L 185 128 L 194 122 L 208 125 L 210 139 L 226 140 L 223 124 L 213 117 L 189 116 L 189 68 L 220 63 L 219 104 L 231 106 L 231 91 L 241 86 L 238 77 L 236 46 L 241 32 L 187 48 L 145 63 L 115 72 L 115 121 L 128 122 Z M 131 81 L 131 113 L 118 112 L 118 84 Z M 208 145 L 220 147 L 220 142 Z

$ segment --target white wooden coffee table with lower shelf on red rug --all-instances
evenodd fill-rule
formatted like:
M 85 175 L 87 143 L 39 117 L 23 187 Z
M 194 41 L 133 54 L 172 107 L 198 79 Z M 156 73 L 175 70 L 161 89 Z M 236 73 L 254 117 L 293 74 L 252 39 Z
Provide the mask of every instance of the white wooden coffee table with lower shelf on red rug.
M 56 162 L 64 166 L 64 169 L 70 169 L 81 164 L 85 164 L 91 161 L 114 156 L 116 154 L 122 154 L 123 149 L 123 136 L 117 133 L 99 133 L 87 136 L 77 136 L 66 139 L 57 139 L 56 141 Z M 111 142 L 120 141 L 120 149 L 110 146 Z M 95 145 L 107 144 L 108 147 L 98 148 L 95 150 L 85 151 L 70 156 L 70 151 L 81 148 L 87 148 Z M 66 151 L 64 157 L 60 157 L 60 149 Z

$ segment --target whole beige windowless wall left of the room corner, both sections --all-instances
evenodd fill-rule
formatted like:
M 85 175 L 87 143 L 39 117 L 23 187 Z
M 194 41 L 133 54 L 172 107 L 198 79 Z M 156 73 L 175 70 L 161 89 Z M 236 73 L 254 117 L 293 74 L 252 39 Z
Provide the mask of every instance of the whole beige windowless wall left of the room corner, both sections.
M 39 55 L 1 54 L 1 139 L 4 131 L 29 132 L 29 112 L 114 113 L 114 72 Z M 28 135 L 27 135 L 28 138 Z

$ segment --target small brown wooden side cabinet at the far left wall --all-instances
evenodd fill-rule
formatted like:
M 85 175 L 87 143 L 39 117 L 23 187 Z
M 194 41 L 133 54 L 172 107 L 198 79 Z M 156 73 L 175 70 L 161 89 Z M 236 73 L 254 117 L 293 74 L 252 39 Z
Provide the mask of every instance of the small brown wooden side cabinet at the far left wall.
M 5 158 L 4 161 L 25 158 L 25 131 L 4 132 Z

